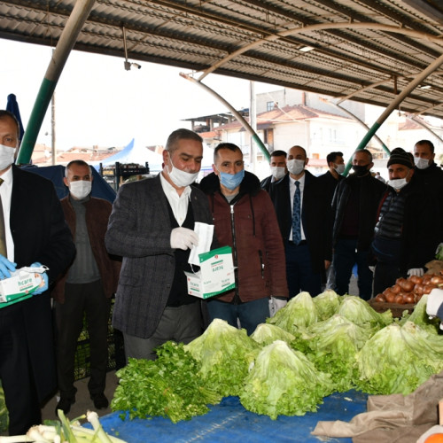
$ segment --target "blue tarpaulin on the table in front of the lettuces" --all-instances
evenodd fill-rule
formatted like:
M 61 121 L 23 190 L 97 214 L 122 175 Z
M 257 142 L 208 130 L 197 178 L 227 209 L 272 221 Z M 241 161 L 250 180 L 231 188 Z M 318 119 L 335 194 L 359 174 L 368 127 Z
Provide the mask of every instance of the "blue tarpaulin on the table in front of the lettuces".
M 362 392 L 334 393 L 324 399 L 323 405 L 320 405 L 315 413 L 308 412 L 305 416 L 278 416 L 276 420 L 271 420 L 268 416 L 259 416 L 246 411 L 238 397 L 226 397 L 219 405 L 211 406 L 211 411 L 205 416 L 196 416 L 190 421 L 177 424 L 163 417 L 122 421 L 118 412 L 100 417 L 100 423 L 106 432 L 128 443 L 151 441 L 318 443 L 324 439 L 310 434 L 318 421 L 350 421 L 357 414 L 366 412 L 367 400 L 368 395 Z M 351 442 L 352 439 L 327 439 L 327 441 Z

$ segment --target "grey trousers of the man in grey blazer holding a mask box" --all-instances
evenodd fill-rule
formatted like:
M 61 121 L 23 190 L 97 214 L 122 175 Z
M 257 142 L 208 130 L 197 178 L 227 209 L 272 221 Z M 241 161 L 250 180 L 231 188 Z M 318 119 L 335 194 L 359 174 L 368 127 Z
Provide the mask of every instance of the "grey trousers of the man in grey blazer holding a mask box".
M 150 338 L 139 338 L 123 332 L 125 354 L 129 358 L 155 360 L 154 348 L 168 340 L 190 343 L 202 333 L 201 303 L 197 300 L 181 307 L 165 307 L 159 325 Z

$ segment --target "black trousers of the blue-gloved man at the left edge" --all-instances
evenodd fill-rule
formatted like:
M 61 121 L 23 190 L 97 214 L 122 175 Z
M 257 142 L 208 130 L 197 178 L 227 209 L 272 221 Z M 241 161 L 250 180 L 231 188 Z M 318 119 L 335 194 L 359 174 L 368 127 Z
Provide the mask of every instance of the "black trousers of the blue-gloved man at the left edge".
M 0 309 L 0 377 L 10 435 L 25 434 L 33 424 L 42 423 L 31 368 L 21 307 L 19 303 L 4 307 Z

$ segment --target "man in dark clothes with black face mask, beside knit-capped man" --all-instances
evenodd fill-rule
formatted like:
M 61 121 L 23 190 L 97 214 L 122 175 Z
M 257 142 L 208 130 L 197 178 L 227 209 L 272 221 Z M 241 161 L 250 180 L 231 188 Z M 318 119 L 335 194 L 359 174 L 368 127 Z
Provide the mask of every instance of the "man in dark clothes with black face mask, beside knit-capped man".
M 369 249 L 380 198 L 386 189 L 370 174 L 374 166 L 367 149 L 354 152 L 354 174 L 338 183 L 332 199 L 335 216 L 332 231 L 336 291 L 347 294 L 354 265 L 358 269 L 358 294 L 369 300 L 372 295 L 372 271 L 369 269 Z

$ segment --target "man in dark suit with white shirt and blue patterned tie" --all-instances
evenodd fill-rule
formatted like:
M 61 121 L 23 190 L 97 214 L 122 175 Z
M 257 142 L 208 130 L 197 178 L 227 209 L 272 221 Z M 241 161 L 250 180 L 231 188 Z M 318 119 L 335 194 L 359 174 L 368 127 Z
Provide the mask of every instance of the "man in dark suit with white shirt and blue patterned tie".
M 318 295 L 332 255 L 330 206 L 318 180 L 305 169 L 307 162 L 305 149 L 292 146 L 289 175 L 269 190 L 284 239 L 290 297 L 300 291 Z

